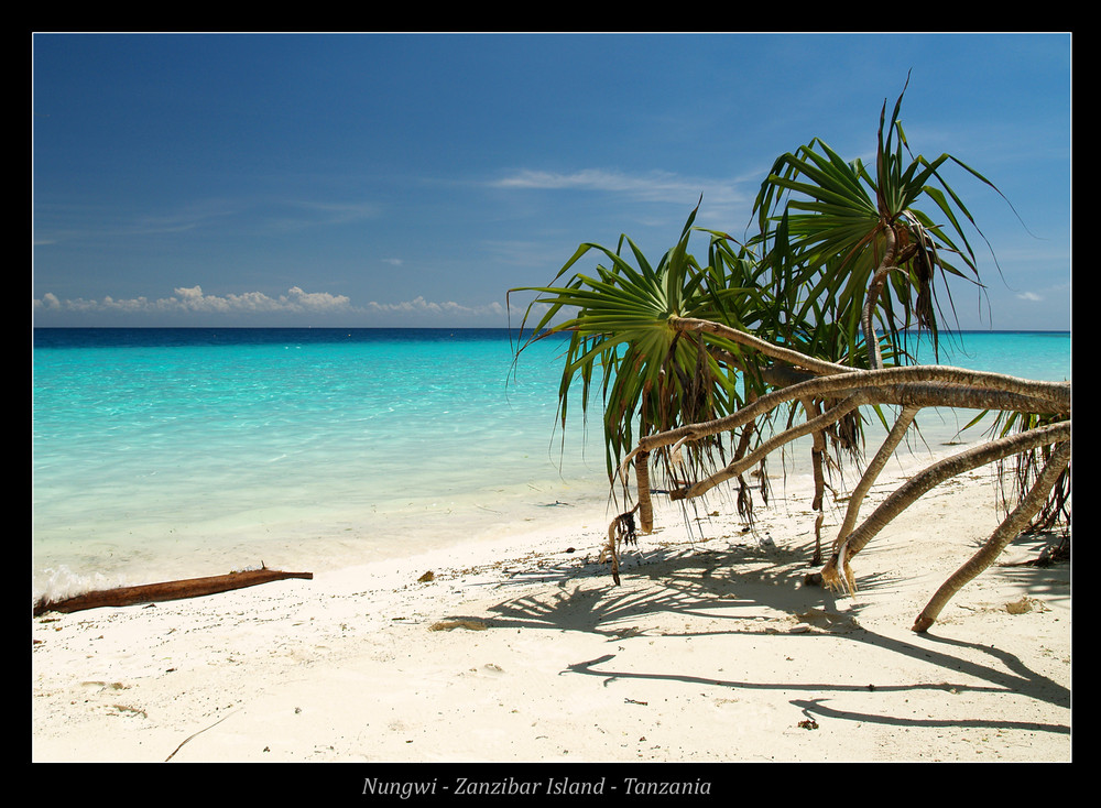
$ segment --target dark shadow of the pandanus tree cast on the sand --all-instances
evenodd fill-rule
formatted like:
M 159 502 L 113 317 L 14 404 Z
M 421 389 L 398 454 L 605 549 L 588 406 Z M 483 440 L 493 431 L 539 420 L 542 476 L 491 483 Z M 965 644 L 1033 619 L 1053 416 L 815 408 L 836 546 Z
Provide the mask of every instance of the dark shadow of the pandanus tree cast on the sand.
M 570 632 L 586 632 L 607 637 L 609 642 L 644 634 L 632 622 L 644 618 L 658 618 L 666 625 L 677 618 L 706 618 L 707 623 L 689 627 L 685 621 L 680 631 L 661 630 L 661 636 L 699 637 L 716 634 L 752 633 L 776 636 L 781 643 L 821 641 L 822 631 L 803 634 L 789 631 L 772 631 L 777 620 L 787 615 L 820 615 L 826 623 L 818 629 L 829 627 L 828 618 L 838 615 L 830 592 L 824 588 L 806 586 L 803 581 L 808 571 L 802 553 L 763 553 L 755 547 L 728 546 L 722 549 L 706 548 L 686 550 L 684 548 L 659 548 L 646 554 L 644 559 L 621 570 L 623 586 L 615 587 L 607 578 L 604 567 L 596 564 L 582 566 L 544 567 L 537 570 L 538 580 L 546 588 L 517 598 L 503 600 L 489 608 L 491 618 L 479 615 L 489 627 L 502 629 L 554 629 Z M 1039 577 L 1044 570 L 1017 568 L 1016 576 Z M 513 578 L 513 582 L 531 583 L 531 578 Z M 889 577 L 863 579 L 862 591 L 896 583 Z M 855 615 L 859 605 L 846 611 Z M 838 615 L 839 616 L 839 615 Z M 810 622 L 810 621 L 807 621 Z M 791 627 L 792 623 L 788 623 Z M 1069 708 L 1069 688 L 1031 669 L 1020 657 L 993 645 L 978 644 L 937 636 L 935 633 L 914 634 L 913 638 L 897 638 L 869 631 L 854 622 L 842 625 L 841 631 L 830 633 L 830 640 L 838 643 L 839 655 L 859 655 L 861 646 L 874 646 L 892 654 L 898 654 L 923 664 L 939 666 L 946 671 L 946 680 L 912 683 L 892 686 L 875 686 L 881 691 L 951 690 L 957 688 L 970 692 L 1006 692 Z M 973 659 L 978 656 L 979 659 Z M 795 691 L 805 694 L 829 694 L 866 691 L 868 685 L 837 684 L 820 681 L 740 681 L 701 677 L 666 669 L 651 673 L 617 668 L 617 653 L 608 653 L 567 666 L 559 675 L 595 676 L 607 686 L 619 679 L 650 679 L 680 681 L 745 690 Z M 969 658 L 972 657 L 972 658 Z M 983 659 L 985 657 L 985 659 Z M 955 676 L 960 678 L 952 680 Z M 962 677 L 967 677 L 966 679 Z M 984 685 L 974 685 L 978 679 Z M 1020 729 L 1037 732 L 1069 734 L 1062 724 L 1028 721 L 1004 721 L 993 719 L 948 720 L 908 719 L 886 714 L 838 711 L 826 703 L 828 698 L 793 699 L 792 703 L 808 714 L 852 721 L 879 722 L 896 727 L 984 727 L 989 729 Z

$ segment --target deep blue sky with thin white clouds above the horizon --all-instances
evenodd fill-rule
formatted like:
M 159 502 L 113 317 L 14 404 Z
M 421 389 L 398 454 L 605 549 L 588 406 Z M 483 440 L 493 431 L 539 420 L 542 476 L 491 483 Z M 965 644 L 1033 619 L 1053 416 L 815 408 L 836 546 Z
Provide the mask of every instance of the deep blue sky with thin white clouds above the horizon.
M 783 152 L 868 159 L 912 70 L 912 149 L 1013 206 L 950 174 L 993 249 L 960 326 L 1070 328 L 1069 34 L 32 44 L 35 325 L 506 326 L 581 242 L 656 261 L 700 195 L 744 233 Z

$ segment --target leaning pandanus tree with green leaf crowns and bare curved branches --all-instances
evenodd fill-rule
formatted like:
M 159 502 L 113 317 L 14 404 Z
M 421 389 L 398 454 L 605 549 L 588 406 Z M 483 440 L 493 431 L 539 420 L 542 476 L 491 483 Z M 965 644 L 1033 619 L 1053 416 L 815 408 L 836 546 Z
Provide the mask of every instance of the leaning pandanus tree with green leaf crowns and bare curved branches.
M 694 228 L 694 210 L 656 265 L 626 237 L 614 251 L 585 243 L 550 284 L 523 290 L 536 296 L 522 323 L 532 336 L 517 357 L 533 340 L 568 336 L 562 425 L 571 396 L 588 412 L 599 390 L 609 477 L 625 483 L 634 470 L 635 505 L 608 533 L 617 582 L 619 545 L 635 538 L 635 514 L 639 529 L 653 528 L 652 469 L 675 501 L 733 481 L 739 511 L 749 513 L 746 472 L 806 436 L 817 511 L 811 564 L 825 561 L 821 580 L 850 592 L 852 558 L 917 498 L 969 469 L 1027 458 L 1018 501 L 936 593 L 916 631 L 1037 513 L 1069 517 L 1070 383 L 916 364 L 907 350 L 915 330 L 936 350 L 938 292 L 950 305 L 949 277 L 981 283 L 967 228 L 980 231 L 945 168 L 994 186 L 951 155 L 911 155 L 901 103 L 902 96 L 890 117 L 883 106 L 871 170 L 818 139 L 780 156 L 754 204 L 756 234 L 744 243 Z M 696 233 L 708 239 L 704 265 L 689 252 Z M 575 271 L 590 251 L 608 264 Z M 861 520 L 872 483 L 925 407 L 1000 413 L 1024 428 L 934 463 Z M 870 418 L 887 434 L 862 463 L 827 559 L 820 529 L 829 449 L 861 460 Z

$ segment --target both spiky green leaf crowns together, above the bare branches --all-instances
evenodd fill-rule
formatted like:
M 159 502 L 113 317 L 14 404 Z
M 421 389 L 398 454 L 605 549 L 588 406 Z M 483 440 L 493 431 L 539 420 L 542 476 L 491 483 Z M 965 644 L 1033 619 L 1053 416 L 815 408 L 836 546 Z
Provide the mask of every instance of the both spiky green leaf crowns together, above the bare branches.
M 881 109 L 873 165 L 818 138 L 777 157 L 746 243 L 695 228 L 697 204 L 656 264 L 624 234 L 614 250 L 582 243 L 546 286 L 511 291 L 536 295 L 521 325 L 531 340 L 568 335 L 558 415 L 565 426 L 578 400 L 584 413 L 600 410 L 609 473 L 641 436 L 721 417 L 791 383 L 782 363 L 752 347 L 682 334 L 671 320 L 708 320 L 854 369 L 912 362 L 915 325 L 936 349 L 938 287 L 978 283 L 966 230 L 974 221 L 944 170 L 993 185 L 951 155 L 911 155 L 902 97 L 890 116 L 886 102 Z M 706 265 L 689 251 L 694 234 L 708 238 Z M 597 265 L 580 271 L 592 255 Z

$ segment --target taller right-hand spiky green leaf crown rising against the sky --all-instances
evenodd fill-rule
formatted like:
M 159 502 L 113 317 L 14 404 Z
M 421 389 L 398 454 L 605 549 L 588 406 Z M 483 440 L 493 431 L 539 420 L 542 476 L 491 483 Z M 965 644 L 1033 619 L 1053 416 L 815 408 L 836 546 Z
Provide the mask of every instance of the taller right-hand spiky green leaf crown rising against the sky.
M 927 329 L 936 345 L 937 288 L 947 288 L 937 283 L 938 273 L 978 282 L 964 227 L 974 227 L 974 220 L 945 181 L 944 166 L 960 166 L 994 188 L 951 155 L 907 156 L 901 103 L 902 96 L 890 117 L 885 102 L 881 110 L 874 175 L 861 161 L 846 162 L 814 139 L 776 160 L 754 204 L 765 261 L 785 287 L 777 299 L 798 287 L 803 314 L 816 299 L 824 312 L 851 324 L 882 281 L 872 316 L 892 349 L 914 326 Z M 923 201 L 940 223 L 917 207 Z

